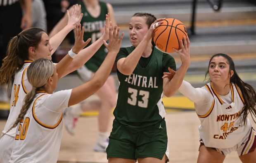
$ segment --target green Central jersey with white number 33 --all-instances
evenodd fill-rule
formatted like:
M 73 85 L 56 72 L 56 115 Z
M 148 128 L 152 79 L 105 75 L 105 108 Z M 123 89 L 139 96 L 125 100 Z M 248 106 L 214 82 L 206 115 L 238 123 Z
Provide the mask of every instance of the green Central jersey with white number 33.
M 116 62 L 127 57 L 134 49 L 133 46 L 121 48 Z M 119 93 L 114 116 L 119 123 L 135 132 L 144 130 L 164 118 L 166 111 L 162 102 L 163 72 L 168 71 L 168 66 L 176 71 L 173 57 L 155 47 L 148 63 L 143 64 L 143 59 L 145 58 L 141 57 L 129 76 L 117 71 Z

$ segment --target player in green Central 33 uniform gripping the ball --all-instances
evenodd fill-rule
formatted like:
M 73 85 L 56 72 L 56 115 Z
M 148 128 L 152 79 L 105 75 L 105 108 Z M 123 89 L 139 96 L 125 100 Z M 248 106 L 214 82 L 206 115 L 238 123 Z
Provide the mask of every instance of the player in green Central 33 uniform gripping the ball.
M 152 44 L 153 26 L 164 19 L 135 13 L 130 19 L 129 38 L 133 46 L 121 48 L 116 57 L 119 94 L 109 136 L 109 163 L 165 163 L 168 160 L 167 133 L 162 103 L 180 87 L 190 65 L 190 42 L 184 39 L 177 52 L 182 65 L 171 81 L 162 79 L 168 67 L 176 68 L 173 57 Z

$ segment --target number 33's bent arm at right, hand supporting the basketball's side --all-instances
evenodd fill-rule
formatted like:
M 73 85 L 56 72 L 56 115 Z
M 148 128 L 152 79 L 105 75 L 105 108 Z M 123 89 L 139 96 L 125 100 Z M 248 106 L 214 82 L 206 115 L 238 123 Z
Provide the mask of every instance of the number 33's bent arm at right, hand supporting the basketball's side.
M 180 40 L 181 52 L 173 48 L 173 50 L 180 55 L 182 64 L 170 81 L 168 78 L 164 78 L 163 90 L 166 97 L 171 97 L 175 94 L 185 77 L 188 67 L 190 66 L 190 40 L 188 37 L 183 37 L 183 40 Z

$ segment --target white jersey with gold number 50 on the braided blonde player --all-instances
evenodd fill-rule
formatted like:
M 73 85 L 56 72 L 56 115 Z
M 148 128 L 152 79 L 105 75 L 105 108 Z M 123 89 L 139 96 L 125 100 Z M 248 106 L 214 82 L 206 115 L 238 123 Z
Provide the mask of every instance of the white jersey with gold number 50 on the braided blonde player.
M 56 163 L 62 139 L 62 111 L 71 90 L 38 92 L 17 125 L 10 163 Z

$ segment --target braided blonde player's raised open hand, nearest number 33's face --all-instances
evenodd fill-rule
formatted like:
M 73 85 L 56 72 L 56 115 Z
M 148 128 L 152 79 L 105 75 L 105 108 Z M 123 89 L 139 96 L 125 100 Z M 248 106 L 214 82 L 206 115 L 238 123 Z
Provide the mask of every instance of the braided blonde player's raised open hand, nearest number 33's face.
M 111 22 L 110 22 L 111 24 Z M 106 28 L 105 24 L 105 28 Z M 109 43 L 104 40 L 104 45 L 107 47 L 109 52 L 115 52 L 116 54 L 119 52 L 121 42 L 123 40 L 124 33 L 122 33 L 121 37 L 119 38 L 120 28 L 114 26 L 114 28 L 110 25 L 109 26 Z

